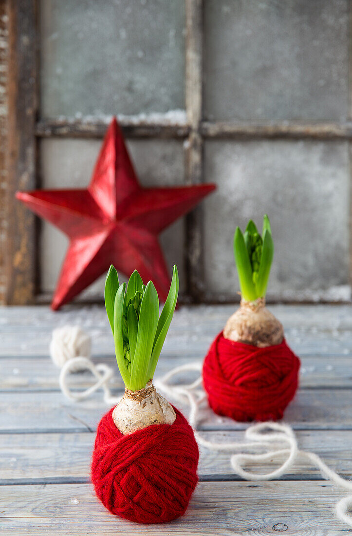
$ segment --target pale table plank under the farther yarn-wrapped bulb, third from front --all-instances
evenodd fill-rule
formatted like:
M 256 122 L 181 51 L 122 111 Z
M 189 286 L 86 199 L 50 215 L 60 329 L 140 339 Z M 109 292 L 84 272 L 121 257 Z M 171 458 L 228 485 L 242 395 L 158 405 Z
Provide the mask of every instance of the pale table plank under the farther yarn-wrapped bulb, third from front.
M 2 433 L 92 431 L 109 409 L 101 391 L 79 403 L 66 399 L 60 391 L 27 391 L 24 396 L 20 393 L 1 393 Z M 122 394 L 122 390 L 113 391 L 116 403 Z M 187 405 L 175 405 L 188 415 Z M 285 422 L 296 430 L 352 430 L 351 406 L 351 389 L 302 389 L 288 406 Z M 215 415 L 206 404 L 200 408 L 200 430 L 243 430 L 247 426 Z

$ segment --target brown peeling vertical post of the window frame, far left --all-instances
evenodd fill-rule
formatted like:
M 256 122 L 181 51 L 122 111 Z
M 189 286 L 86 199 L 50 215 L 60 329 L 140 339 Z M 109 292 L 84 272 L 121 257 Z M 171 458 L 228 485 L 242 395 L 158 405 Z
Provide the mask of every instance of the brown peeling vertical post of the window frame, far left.
M 14 198 L 35 187 L 36 35 L 35 0 L 9 2 L 9 161 L 6 303 L 33 302 L 35 219 Z

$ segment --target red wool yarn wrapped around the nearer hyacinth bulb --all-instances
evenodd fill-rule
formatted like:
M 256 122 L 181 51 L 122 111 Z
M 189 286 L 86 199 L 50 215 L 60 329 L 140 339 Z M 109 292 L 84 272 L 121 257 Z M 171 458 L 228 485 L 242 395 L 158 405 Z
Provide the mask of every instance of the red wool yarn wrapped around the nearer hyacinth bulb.
M 198 482 L 199 451 L 189 423 L 174 408 L 172 425 L 123 435 L 114 424 L 113 409 L 96 431 L 96 495 L 111 513 L 137 523 L 165 523 L 182 516 Z

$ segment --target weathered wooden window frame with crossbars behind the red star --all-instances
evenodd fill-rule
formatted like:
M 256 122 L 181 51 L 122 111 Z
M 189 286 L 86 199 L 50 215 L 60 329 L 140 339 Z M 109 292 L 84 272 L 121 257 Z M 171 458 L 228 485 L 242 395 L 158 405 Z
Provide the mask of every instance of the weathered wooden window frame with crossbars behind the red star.
M 204 180 L 204 141 L 208 139 L 352 139 L 352 122 L 261 122 L 204 121 L 203 40 L 204 2 L 185 1 L 185 111 L 186 124 L 163 120 L 140 121 L 128 117 L 120 120 L 126 138 L 171 138 L 184 140 L 185 183 Z M 16 190 L 40 187 L 38 140 L 58 138 L 102 138 L 108 123 L 101 120 L 38 120 L 39 110 L 39 0 L 6 0 L 0 4 L 0 32 L 8 26 L 7 84 L 0 79 L 8 120 L 0 114 L 0 167 L 5 170 L 0 203 L 0 302 L 7 304 L 47 303 L 40 294 L 38 237 L 40 223 L 24 205 L 16 202 Z M 350 20 L 352 5 L 349 4 Z M 2 10 L 2 11 L 1 11 Z M 5 15 L 5 18 L 4 18 Z M 7 19 L 6 19 L 7 17 Z M 4 22 L 5 21 L 5 22 Z M 350 25 L 351 27 L 351 25 Z M 0 59 L 4 54 L 0 48 Z M 349 50 L 351 79 L 351 53 Z M 0 94 L 1 95 L 1 94 Z M 0 102 L 1 105 L 1 102 Z M 6 106 L 5 106 L 6 108 Z M 350 110 L 352 99 L 350 92 Z M 2 127 L 2 128 L 1 128 Z M 350 151 L 350 158 L 352 153 Z M 352 189 L 350 188 L 350 281 L 352 279 Z M 232 298 L 219 296 L 205 288 L 203 257 L 203 215 L 199 205 L 186 216 L 184 303 L 224 303 Z M 280 300 L 284 301 L 284 300 Z

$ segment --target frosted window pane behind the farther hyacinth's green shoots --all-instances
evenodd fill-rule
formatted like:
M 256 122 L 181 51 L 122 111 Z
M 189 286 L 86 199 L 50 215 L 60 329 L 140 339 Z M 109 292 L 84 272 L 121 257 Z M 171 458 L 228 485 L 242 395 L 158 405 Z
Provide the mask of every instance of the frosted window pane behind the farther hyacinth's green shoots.
M 234 296 L 235 227 L 271 219 L 275 255 L 268 292 L 334 297 L 349 281 L 349 163 L 345 142 L 207 142 L 206 289 Z M 335 292 L 335 294 L 334 294 Z

